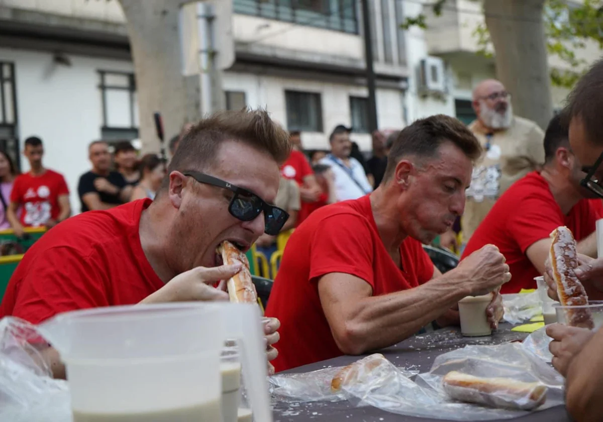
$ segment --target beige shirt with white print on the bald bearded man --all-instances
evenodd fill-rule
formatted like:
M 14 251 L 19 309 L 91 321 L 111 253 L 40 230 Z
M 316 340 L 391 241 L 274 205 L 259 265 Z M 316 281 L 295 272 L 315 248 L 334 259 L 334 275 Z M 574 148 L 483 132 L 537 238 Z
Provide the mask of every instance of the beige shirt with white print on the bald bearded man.
M 545 162 L 545 133 L 532 121 L 514 116 L 510 128 L 490 136 L 488 151 L 485 149 L 489 131 L 477 120 L 469 129 L 484 147 L 484 154 L 473 168 L 471 186 L 467 189 L 461 220 L 464 243 L 469 241 L 500 195 Z

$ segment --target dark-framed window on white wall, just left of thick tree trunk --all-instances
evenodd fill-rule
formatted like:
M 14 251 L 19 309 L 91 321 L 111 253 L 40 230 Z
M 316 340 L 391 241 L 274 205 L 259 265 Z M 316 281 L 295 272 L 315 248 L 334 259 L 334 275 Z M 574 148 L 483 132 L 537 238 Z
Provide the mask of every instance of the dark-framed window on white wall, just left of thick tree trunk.
M 101 136 L 105 140 L 138 137 L 136 81 L 129 72 L 98 71 L 103 104 Z

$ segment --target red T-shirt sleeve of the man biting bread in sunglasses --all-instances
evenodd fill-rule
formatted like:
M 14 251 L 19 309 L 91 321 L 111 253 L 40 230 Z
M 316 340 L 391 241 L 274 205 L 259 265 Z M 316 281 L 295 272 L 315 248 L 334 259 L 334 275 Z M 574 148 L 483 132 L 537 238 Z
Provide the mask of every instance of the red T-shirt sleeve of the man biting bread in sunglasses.
M 60 312 L 109 306 L 106 278 L 92 257 L 70 247 L 49 248 L 25 269 L 12 315 L 37 324 Z

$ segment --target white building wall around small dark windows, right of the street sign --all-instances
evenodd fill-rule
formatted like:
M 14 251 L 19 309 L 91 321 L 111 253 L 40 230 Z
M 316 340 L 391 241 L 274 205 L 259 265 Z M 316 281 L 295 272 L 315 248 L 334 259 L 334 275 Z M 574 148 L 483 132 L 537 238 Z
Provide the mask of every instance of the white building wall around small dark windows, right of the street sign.
M 367 96 L 367 89 L 360 86 L 322 83 L 309 80 L 277 78 L 227 72 L 224 75 L 224 90 L 245 92 L 249 107 L 265 107 L 274 120 L 286 128 L 285 90 L 298 90 L 321 94 L 323 110 L 323 132 L 303 132 L 301 142 L 304 148 L 329 149 L 328 136 L 338 125 L 350 125 L 350 95 Z M 395 89 L 377 89 L 377 124 L 380 128 L 402 128 L 403 98 L 402 92 Z M 369 134 L 353 134 L 361 150 L 372 148 Z

